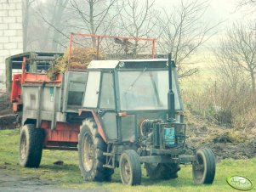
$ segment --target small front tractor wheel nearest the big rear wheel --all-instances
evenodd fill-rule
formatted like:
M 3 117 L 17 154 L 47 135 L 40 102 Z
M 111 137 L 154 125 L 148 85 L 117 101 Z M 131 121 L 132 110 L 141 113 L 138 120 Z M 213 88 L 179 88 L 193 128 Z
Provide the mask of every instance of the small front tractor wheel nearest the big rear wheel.
M 135 150 L 125 150 L 119 161 L 122 184 L 139 185 L 141 183 L 141 166 L 139 155 Z

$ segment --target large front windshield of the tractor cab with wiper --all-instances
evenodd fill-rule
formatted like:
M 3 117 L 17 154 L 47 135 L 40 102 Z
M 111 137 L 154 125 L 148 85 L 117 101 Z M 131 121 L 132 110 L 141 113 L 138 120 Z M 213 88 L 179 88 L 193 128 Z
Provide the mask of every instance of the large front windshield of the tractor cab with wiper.
M 121 110 L 168 109 L 168 71 L 119 71 Z

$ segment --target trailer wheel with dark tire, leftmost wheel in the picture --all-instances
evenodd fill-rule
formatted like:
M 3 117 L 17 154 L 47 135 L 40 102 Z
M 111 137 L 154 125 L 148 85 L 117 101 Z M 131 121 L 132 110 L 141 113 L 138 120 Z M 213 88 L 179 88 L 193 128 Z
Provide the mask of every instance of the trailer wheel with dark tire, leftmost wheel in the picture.
M 37 168 L 43 153 L 45 132 L 32 124 L 21 127 L 20 130 L 20 166 Z

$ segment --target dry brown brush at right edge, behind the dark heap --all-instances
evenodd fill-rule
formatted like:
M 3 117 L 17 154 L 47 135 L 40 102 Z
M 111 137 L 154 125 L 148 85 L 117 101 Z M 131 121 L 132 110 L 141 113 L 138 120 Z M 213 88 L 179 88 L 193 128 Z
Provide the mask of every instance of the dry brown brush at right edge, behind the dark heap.
M 227 127 L 246 130 L 255 126 L 255 96 L 247 82 L 236 88 L 225 82 L 208 82 L 198 90 L 193 87 L 183 93 L 187 110 Z

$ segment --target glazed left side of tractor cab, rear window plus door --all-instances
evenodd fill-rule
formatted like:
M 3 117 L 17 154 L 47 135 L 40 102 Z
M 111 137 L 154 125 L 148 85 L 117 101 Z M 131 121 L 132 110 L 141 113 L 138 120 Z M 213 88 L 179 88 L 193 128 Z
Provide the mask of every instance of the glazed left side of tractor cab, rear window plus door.
M 116 98 L 112 71 L 89 71 L 83 107 L 94 108 L 108 141 L 117 140 Z

